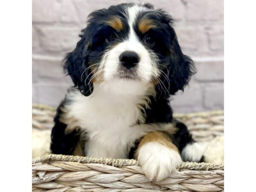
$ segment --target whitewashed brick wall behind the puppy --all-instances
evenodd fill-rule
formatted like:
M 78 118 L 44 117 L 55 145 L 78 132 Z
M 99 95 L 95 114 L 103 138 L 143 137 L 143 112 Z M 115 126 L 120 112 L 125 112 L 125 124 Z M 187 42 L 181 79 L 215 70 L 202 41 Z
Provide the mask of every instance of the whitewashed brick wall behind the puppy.
M 72 51 L 90 12 L 142 0 L 32 0 L 32 94 L 34 103 L 57 106 L 72 85 L 63 74 L 62 59 Z M 198 73 L 171 98 L 175 112 L 219 110 L 224 107 L 223 0 L 147 0 L 175 19 L 183 53 Z

